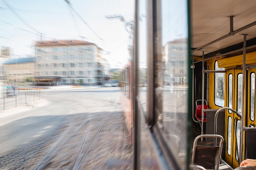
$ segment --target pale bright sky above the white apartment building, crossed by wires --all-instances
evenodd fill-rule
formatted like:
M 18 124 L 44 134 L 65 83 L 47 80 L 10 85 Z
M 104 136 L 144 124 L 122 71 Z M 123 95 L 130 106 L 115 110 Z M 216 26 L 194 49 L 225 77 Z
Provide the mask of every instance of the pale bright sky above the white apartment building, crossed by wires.
M 0 46 L 25 57 L 33 56 L 35 41 L 89 41 L 104 50 L 112 68 L 122 67 L 129 59 L 129 33 L 109 15 L 133 21 L 133 0 L 0 0 Z

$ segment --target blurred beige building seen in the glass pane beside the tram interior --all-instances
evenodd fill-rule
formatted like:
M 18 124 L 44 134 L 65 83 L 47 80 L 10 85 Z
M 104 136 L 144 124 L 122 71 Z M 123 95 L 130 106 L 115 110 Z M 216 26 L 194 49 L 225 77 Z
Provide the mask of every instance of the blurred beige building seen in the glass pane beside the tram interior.
M 187 85 L 187 39 L 175 39 L 164 46 L 164 82 L 170 86 Z

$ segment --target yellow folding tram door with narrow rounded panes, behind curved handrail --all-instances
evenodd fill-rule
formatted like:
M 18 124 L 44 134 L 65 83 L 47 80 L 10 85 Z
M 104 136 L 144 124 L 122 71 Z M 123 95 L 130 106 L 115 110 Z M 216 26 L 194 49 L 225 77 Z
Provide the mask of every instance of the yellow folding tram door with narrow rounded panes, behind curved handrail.
M 242 70 L 227 70 L 226 74 L 226 106 L 242 112 Z M 226 151 L 225 160 L 230 166 L 238 167 L 239 142 L 240 142 L 240 118 L 231 111 L 226 111 Z

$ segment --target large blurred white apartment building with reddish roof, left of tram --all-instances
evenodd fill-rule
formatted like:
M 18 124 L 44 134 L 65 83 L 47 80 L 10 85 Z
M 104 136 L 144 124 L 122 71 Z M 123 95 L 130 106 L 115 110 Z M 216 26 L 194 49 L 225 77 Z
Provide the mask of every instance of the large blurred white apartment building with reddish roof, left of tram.
M 96 44 L 79 40 L 36 41 L 36 85 L 103 85 L 109 65 Z

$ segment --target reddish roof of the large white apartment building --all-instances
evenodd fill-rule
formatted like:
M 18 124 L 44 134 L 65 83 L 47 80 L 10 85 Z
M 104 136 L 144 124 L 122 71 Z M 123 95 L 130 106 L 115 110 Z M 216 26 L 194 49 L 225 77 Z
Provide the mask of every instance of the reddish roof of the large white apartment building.
M 79 40 L 54 40 L 54 41 L 36 41 L 36 46 L 60 46 L 60 45 L 95 45 L 88 41 Z

